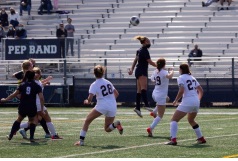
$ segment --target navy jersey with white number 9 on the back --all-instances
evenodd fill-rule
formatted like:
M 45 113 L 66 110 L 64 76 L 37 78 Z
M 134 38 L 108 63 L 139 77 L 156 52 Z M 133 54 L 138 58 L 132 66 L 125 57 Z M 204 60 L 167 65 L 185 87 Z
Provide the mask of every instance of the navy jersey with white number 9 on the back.
M 42 92 L 42 88 L 35 82 L 23 82 L 18 89 L 21 98 L 19 108 L 35 108 L 36 109 L 36 95 Z

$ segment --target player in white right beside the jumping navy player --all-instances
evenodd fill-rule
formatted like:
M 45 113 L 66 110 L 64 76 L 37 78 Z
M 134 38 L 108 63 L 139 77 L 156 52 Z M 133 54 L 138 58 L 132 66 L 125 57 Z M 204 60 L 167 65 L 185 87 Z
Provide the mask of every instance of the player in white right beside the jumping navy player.
M 152 131 L 155 126 L 160 122 L 164 116 L 166 99 L 168 95 L 169 79 L 173 78 L 174 71 L 169 69 L 169 72 L 165 70 L 166 61 L 164 58 L 160 58 L 156 62 L 157 69 L 151 75 L 151 81 L 155 82 L 155 88 L 152 93 L 152 98 L 156 102 L 155 111 L 158 115 L 154 118 L 150 127 L 147 128 L 148 136 L 152 137 Z

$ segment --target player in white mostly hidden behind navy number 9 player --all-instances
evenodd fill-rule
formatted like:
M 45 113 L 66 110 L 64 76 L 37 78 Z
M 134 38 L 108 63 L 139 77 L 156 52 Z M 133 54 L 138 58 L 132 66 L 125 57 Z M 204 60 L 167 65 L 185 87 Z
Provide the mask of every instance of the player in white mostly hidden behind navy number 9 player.
M 44 80 L 40 80 L 41 77 L 42 77 L 42 72 L 41 72 L 40 68 L 34 67 L 34 68 L 33 68 L 33 71 L 35 72 L 35 82 L 36 82 L 39 86 L 41 86 L 42 91 L 43 91 L 44 86 L 49 83 L 49 81 L 52 79 L 52 76 L 49 76 L 49 77 L 47 77 L 47 78 L 44 79 Z M 51 137 L 51 139 L 62 139 L 62 138 L 59 137 L 59 135 L 56 133 L 54 124 L 51 122 L 50 115 L 49 115 L 49 113 L 48 113 L 48 111 L 47 111 L 47 108 L 46 108 L 45 106 L 43 106 L 43 108 L 44 108 L 43 111 L 44 111 L 44 112 L 42 112 L 41 106 L 40 106 L 40 100 L 39 100 L 39 97 L 38 97 L 38 96 L 36 97 L 36 106 L 37 106 L 37 114 L 38 114 L 39 122 L 42 120 L 42 118 L 44 118 L 44 120 L 46 121 L 46 125 L 47 125 L 46 128 L 48 128 L 49 131 L 50 131 L 50 134 L 51 134 L 50 137 Z M 23 123 L 23 124 L 21 124 L 21 128 L 22 128 L 22 127 L 27 127 L 27 126 L 28 126 L 28 123 Z M 21 130 L 20 133 L 21 133 L 21 135 L 23 136 L 23 138 L 27 138 L 25 130 Z

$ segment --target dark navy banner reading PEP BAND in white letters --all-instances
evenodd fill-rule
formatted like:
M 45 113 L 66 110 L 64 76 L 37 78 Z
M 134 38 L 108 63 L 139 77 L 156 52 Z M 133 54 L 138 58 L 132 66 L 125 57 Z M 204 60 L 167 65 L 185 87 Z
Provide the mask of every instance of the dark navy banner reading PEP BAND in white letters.
M 5 59 L 61 58 L 59 39 L 5 39 Z

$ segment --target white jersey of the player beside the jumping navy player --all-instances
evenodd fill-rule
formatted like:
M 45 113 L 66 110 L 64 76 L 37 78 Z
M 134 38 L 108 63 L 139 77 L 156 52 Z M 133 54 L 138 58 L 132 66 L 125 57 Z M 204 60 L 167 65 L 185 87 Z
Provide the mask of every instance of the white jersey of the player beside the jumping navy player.
M 159 97 L 166 98 L 168 95 L 169 79 L 166 78 L 168 74 L 167 70 L 161 69 L 159 71 L 156 69 L 151 75 L 151 81 L 155 82 L 153 93 L 157 93 Z

